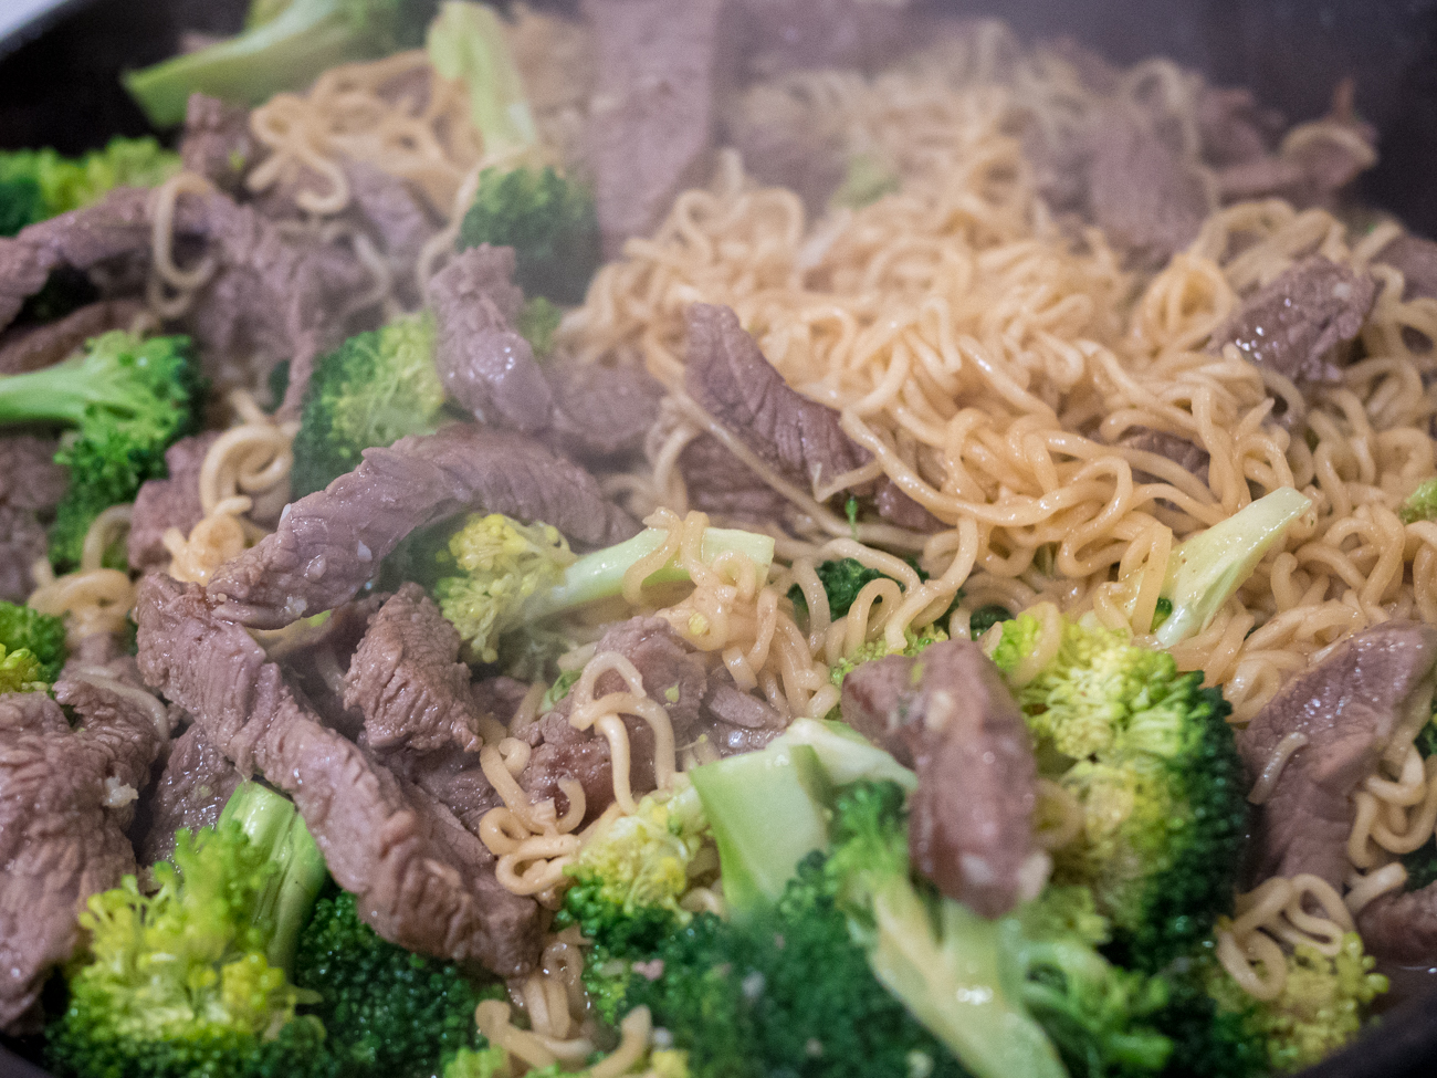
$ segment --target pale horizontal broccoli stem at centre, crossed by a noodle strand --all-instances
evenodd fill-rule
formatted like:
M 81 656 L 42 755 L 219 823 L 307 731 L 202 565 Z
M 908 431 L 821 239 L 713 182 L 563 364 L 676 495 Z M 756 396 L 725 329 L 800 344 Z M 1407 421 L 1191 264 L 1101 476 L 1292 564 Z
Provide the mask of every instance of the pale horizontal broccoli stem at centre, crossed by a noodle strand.
M 602 550 L 583 555 L 563 571 L 560 584 L 549 591 L 535 592 L 525 602 L 523 621 L 536 621 L 596 599 L 621 595 L 624 592 L 624 573 L 628 568 L 654 553 L 667 538 L 667 530 L 647 528 L 616 546 L 606 546 Z M 713 565 L 717 558 L 726 553 L 744 555 L 763 572 L 773 563 L 773 538 L 729 528 L 706 529 L 698 553 L 703 562 Z M 647 576 L 644 586 L 687 579 L 688 573 L 674 558 L 664 568 Z

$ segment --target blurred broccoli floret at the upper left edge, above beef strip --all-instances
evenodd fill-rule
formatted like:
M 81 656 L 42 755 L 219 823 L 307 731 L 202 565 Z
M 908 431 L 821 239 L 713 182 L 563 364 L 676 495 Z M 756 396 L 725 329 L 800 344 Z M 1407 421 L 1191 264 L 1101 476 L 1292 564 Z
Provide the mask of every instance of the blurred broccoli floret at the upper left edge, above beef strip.
M 180 171 L 180 155 L 154 138 L 112 138 L 70 158 L 57 151 L 0 151 L 0 236 L 99 201 L 116 187 L 155 187 Z

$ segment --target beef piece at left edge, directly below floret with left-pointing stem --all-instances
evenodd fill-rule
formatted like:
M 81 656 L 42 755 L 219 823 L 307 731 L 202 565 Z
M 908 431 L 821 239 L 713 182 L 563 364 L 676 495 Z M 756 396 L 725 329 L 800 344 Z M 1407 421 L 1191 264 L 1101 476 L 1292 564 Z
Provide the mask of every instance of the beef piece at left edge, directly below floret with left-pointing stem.
M 32 434 L 0 437 L 0 599 L 24 602 L 34 591 L 30 566 L 46 553 L 46 525 L 69 483 L 55 463 L 56 441 Z

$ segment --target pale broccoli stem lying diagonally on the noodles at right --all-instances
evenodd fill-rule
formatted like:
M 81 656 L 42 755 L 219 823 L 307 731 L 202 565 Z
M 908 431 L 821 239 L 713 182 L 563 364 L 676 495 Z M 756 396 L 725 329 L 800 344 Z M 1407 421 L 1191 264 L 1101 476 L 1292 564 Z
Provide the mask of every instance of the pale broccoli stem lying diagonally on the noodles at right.
M 1311 507 L 1312 500 L 1292 487 L 1277 487 L 1178 546 L 1163 581 L 1161 595 L 1171 599 L 1173 612 L 1157 628 L 1158 642 L 1173 647 L 1201 632 L 1288 525 Z

